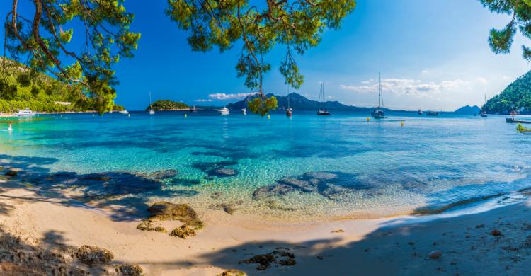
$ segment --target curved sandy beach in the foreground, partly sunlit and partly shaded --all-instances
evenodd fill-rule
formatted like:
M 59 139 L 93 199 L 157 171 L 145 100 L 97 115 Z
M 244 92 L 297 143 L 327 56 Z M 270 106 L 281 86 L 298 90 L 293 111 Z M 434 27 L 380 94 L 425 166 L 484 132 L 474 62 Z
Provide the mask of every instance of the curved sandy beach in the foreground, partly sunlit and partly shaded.
M 268 227 L 237 213 L 199 209 L 205 227 L 183 239 L 139 231 L 141 219 L 116 213 L 123 207 L 98 208 L 3 177 L 0 269 L 50 273 L 53 266 L 42 263 L 51 260 L 28 256 L 56 252 L 55 262 L 96 275 L 135 275 L 122 273 L 123 264 L 139 265 L 144 275 L 218 275 L 227 270 L 247 275 L 526 275 L 530 207 L 531 200 L 523 199 L 454 217 Z M 171 229 L 181 222 L 160 225 Z M 107 249 L 114 258 L 103 265 L 84 265 L 76 258 L 84 245 Z M 17 257 L 20 252 L 26 257 Z M 267 256 L 273 261 L 264 261 Z

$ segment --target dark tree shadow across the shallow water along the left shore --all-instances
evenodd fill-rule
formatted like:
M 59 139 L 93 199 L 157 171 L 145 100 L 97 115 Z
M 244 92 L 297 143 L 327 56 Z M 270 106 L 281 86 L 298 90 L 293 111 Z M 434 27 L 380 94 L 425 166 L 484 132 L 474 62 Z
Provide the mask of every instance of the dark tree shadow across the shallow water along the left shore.
M 20 200 L 46 201 L 67 207 L 105 208 L 110 219 L 131 221 L 143 219 L 147 214 L 149 197 L 191 197 L 198 195 L 196 190 L 166 189 L 161 180 L 175 176 L 163 176 L 164 171 L 153 173 L 132 173 L 127 171 L 110 171 L 105 173 L 75 173 L 62 171 L 52 173 L 45 167 L 57 162 L 28 156 L 0 155 L 0 166 L 16 168 L 18 176 L 12 180 L 31 183 L 35 187 L 25 187 L 35 195 L 29 197 L 11 197 Z M 169 179 L 170 178 L 170 179 Z M 67 195 L 67 193 L 69 195 Z M 8 212 L 8 207 L 4 212 Z M 0 212 L 2 212 L 0 206 Z

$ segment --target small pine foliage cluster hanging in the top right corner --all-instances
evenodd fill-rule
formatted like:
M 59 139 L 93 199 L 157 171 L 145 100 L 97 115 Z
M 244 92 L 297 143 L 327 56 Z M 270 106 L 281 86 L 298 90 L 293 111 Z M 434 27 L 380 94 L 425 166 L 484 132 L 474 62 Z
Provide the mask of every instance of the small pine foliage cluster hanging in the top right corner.
M 530 0 L 480 0 L 484 7 L 494 13 L 512 15 L 511 21 L 503 28 L 492 28 L 489 35 L 489 45 L 496 54 L 506 54 L 510 51 L 516 30 L 520 30 L 525 37 L 531 38 L 531 1 Z M 523 57 L 531 60 L 531 49 L 522 46 Z

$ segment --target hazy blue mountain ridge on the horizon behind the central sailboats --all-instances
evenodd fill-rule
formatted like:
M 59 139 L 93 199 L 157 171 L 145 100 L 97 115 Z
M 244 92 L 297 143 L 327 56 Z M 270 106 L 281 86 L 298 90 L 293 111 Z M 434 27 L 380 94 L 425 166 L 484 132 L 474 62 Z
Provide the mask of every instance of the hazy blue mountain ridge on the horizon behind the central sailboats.
M 273 94 L 268 94 L 268 97 L 275 96 L 278 100 L 278 109 L 287 108 L 287 98 L 290 98 L 290 108 L 294 110 L 317 110 L 319 109 L 319 102 L 316 100 L 309 100 L 304 96 L 297 93 L 290 93 L 287 96 L 276 96 Z M 227 105 L 227 108 L 230 110 L 240 110 L 242 108 L 247 108 L 249 101 L 256 98 L 257 95 L 247 96 L 244 100 L 240 100 L 236 103 L 230 103 Z M 370 112 L 373 108 L 358 108 L 352 105 L 343 105 L 338 101 L 328 101 L 325 104 L 325 108 L 331 111 L 358 111 L 358 112 Z

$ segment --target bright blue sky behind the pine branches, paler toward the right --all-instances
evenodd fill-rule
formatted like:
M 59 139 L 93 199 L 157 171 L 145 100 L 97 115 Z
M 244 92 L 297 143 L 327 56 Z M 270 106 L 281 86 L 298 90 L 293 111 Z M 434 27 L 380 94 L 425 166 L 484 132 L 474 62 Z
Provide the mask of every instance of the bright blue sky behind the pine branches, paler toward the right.
M 223 54 L 192 52 L 187 34 L 164 15 L 166 1 L 146 3 L 125 3 L 136 15 L 131 29 L 142 38 L 135 57 L 115 67 L 120 80 L 117 103 L 129 110 L 144 109 L 152 91 L 154 100 L 224 105 L 253 92 L 236 77 L 239 47 Z M 21 4 L 20 12 L 32 13 L 28 7 L 29 2 Z M 0 14 L 10 8 L 11 1 L 2 1 Z M 530 70 L 520 49 L 529 41 L 520 35 L 510 54 L 495 55 L 489 49 L 489 29 L 509 20 L 473 0 L 359 0 L 340 30 L 327 30 L 318 47 L 296 57 L 305 75 L 297 92 L 316 100 L 319 81 L 324 81 L 329 100 L 374 106 L 381 71 L 388 108 L 481 105 L 485 94 L 499 93 Z M 3 30 L 0 34 L 4 37 Z M 266 57 L 273 66 L 264 81 L 267 93 L 287 93 L 278 73 L 284 54 L 285 47 L 278 45 Z

